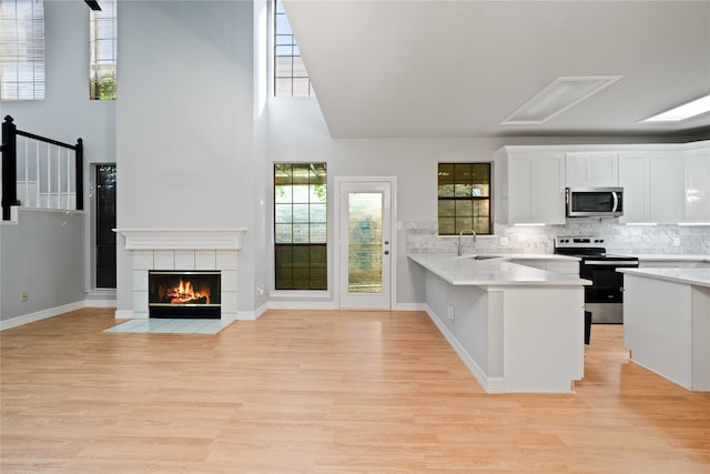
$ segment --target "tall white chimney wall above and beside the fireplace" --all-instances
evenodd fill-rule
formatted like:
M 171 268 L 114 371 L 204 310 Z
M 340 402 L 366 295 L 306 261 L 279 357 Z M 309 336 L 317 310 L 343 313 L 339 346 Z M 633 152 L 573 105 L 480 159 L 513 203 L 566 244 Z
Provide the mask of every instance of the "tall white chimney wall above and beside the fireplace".
M 246 229 L 240 309 L 254 305 L 261 239 L 253 12 L 242 1 L 119 2 L 116 225 Z M 132 305 L 128 259 L 120 254 L 119 310 Z

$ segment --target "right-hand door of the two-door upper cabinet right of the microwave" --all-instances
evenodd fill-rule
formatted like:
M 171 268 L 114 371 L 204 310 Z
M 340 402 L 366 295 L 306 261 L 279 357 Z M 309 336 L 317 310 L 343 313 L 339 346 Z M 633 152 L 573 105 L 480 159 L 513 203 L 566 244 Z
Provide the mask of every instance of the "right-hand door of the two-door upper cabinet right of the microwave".
M 659 152 L 649 157 L 649 212 L 651 222 L 683 220 L 683 160 L 681 153 Z

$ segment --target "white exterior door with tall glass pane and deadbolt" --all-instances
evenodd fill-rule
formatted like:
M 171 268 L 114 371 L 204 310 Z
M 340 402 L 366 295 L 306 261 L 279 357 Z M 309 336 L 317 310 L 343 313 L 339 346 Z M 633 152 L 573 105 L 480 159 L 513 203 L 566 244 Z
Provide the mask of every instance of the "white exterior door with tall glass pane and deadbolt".
M 390 183 L 339 184 L 339 305 L 390 307 Z

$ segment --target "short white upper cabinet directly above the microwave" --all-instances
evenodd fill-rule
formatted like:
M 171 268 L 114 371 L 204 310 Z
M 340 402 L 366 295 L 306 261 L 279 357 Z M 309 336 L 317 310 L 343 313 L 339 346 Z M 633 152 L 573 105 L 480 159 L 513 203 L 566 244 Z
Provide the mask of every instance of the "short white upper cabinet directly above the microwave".
M 567 188 L 610 188 L 619 185 L 616 152 L 571 152 L 565 158 Z

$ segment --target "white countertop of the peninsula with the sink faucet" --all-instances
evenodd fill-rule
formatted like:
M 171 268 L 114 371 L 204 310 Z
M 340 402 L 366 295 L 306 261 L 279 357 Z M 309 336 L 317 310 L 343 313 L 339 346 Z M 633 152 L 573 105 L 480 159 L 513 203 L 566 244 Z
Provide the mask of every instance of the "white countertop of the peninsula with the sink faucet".
M 410 254 L 409 260 L 454 285 L 508 286 L 508 285 L 562 285 L 591 284 L 578 276 L 532 269 L 509 262 L 510 259 L 578 260 L 565 255 L 496 254 L 499 259 L 474 260 L 470 256 L 447 254 Z

